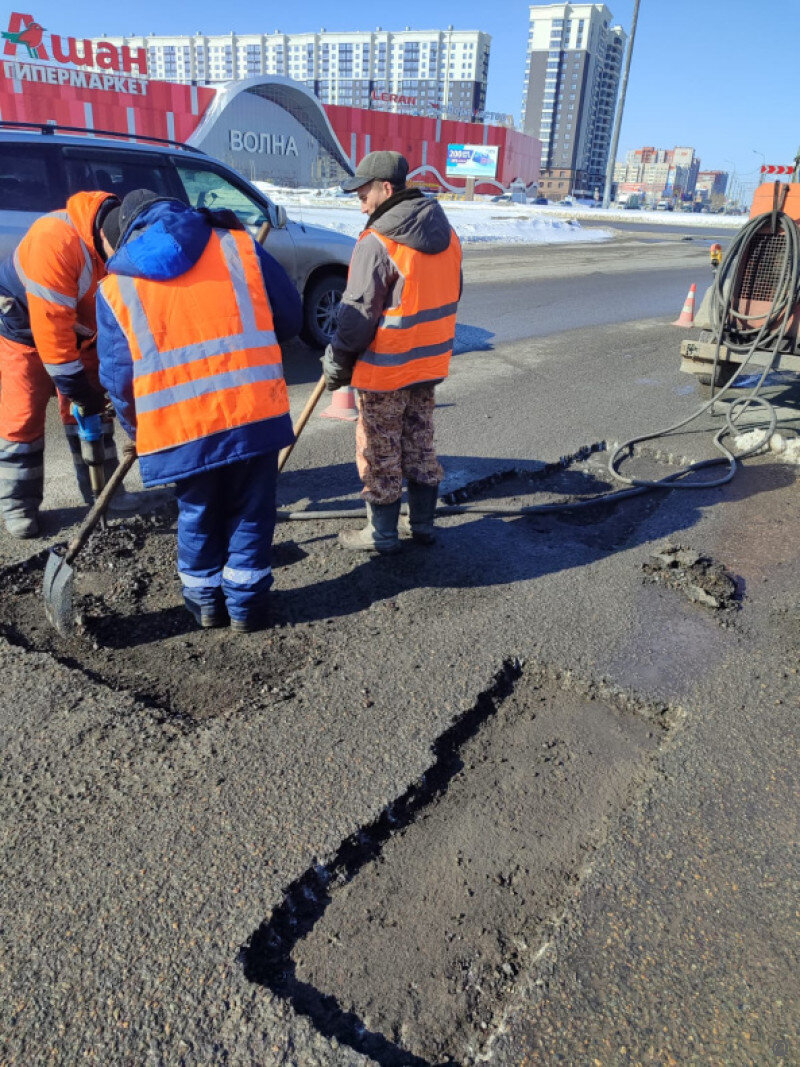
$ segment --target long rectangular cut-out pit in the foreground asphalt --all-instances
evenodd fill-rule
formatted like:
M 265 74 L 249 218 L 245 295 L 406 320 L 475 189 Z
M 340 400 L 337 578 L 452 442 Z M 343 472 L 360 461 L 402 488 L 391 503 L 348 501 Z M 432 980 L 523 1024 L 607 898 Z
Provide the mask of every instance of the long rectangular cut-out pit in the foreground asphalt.
M 423 779 L 289 887 L 246 976 L 384 1067 L 475 1062 L 677 717 L 507 664 Z

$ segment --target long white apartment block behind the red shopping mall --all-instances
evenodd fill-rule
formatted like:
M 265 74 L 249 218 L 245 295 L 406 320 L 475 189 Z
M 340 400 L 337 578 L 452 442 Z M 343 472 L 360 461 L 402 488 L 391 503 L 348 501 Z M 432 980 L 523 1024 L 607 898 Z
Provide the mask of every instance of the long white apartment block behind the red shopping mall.
M 323 103 L 471 118 L 486 102 L 491 36 L 478 30 L 102 37 L 147 51 L 149 76 L 213 85 L 282 75 Z

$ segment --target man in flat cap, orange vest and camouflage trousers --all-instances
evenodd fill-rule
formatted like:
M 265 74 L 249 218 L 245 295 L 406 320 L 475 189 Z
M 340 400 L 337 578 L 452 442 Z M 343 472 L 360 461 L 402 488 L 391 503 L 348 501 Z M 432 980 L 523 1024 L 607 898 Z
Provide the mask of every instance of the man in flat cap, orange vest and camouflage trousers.
M 447 378 L 461 298 L 461 244 L 436 200 L 405 186 L 409 163 L 372 152 L 342 182 L 369 218 L 353 250 L 334 337 L 327 388 L 358 392 L 356 465 L 367 525 L 339 535 L 345 548 L 394 553 L 403 478 L 411 534 L 432 544 L 438 483 L 434 386 Z

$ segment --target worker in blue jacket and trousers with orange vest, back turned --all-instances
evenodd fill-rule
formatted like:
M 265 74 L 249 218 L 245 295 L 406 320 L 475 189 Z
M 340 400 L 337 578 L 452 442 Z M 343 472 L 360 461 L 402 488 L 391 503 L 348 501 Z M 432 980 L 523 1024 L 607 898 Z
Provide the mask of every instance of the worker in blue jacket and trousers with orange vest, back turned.
M 102 233 L 100 380 L 145 485 L 175 482 L 183 601 L 203 627 L 260 628 L 294 440 L 278 341 L 300 331 L 300 297 L 230 211 L 138 189 Z

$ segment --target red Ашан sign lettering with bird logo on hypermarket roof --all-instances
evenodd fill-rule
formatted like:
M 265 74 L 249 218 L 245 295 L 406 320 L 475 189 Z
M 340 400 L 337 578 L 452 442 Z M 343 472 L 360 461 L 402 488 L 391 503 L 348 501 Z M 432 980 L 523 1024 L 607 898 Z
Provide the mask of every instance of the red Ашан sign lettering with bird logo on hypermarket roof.
M 23 60 L 69 63 L 77 67 L 97 67 L 100 70 L 116 70 L 119 74 L 132 74 L 135 68 L 140 78 L 147 76 L 147 49 L 145 48 L 131 51 L 127 45 L 117 48 L 107 41 L 100 41 L 93 45 L 91 41 L 85 38 L 77 41 L 75 37 L 61 37 L 51 33 L 48 38 L 51 55 L 45 44 L 45 27 L 37 22 L 33 15 L 21 15 L 17 11 L 12 12 L 9 29 L 0 34 L 0 37 L 5 41 L 3 54 Z M 32 66 L 32 64 L 25 65 Z M 112 86 L 93 85 L 92 87 L 110 89 Z

